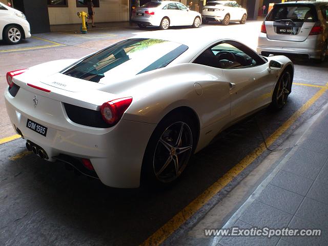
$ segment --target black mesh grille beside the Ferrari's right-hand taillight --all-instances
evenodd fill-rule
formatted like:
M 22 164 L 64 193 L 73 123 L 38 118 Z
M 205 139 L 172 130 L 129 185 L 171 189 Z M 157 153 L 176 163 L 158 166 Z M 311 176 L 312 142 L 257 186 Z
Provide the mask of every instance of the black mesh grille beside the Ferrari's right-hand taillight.
M 86 109 L 78 107 L 71 104 L 64 103 L 67 116 L 73 122 L 88 126 L 88 127 L 97 127 L 97 128 L 109 128 L 108 125 L 101 116 L 100 111 Z

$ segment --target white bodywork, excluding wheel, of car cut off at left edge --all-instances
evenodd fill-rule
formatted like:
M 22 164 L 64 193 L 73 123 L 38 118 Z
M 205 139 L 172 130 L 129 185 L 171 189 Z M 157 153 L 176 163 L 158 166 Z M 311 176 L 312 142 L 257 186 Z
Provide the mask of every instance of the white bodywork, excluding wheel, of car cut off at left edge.
M 19 10 L 10 8 L 3 3 L 0 3 L 0 7 L 6 8 L 6 10 L 0 8 L 0 40 L 3 39 L 3 31 L 8 25 L 18 25 L 24 31 L 25 38 L 31 37 L 30 24 L 26 19 L 18 17 L 15 12 L 20 12 Z

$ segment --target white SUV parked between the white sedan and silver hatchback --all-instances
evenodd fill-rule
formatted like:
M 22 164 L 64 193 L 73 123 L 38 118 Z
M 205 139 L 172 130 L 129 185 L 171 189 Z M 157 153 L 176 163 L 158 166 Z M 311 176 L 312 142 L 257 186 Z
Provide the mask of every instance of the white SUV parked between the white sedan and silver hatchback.
M 202 10 L 204 23 L 221 22 L 222 25 L 229 25 L 230 22 L 245 24 L 247 10 L 241 8 L 236 1 L 210 1 Z

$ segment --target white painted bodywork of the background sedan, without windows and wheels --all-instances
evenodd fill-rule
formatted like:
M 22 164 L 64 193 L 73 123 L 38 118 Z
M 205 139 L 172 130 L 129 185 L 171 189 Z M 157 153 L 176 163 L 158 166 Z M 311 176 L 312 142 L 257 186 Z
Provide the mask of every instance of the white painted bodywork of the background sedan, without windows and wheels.
M 179 2 L 163 1 L 161 5 L 156 8 L 136 8 L 132 13 L 131 21 L 139 24 L 149 24 L 151 26 L 160 26 L 163 17 L 169 17 L 170 26 L 191 26 L 194 23 L 194 19 L 198 16 L 201 20 L 201 15 L 192 10 L 187 10 L 185 5 L 182 5 L 186 10 L 171 10 L 163 9 L 168 4 L 180 4 Z M 145 11 L 155 12 L 155 14 L 146 14 Z M 142 16 L 138 16 L 142 14 Z

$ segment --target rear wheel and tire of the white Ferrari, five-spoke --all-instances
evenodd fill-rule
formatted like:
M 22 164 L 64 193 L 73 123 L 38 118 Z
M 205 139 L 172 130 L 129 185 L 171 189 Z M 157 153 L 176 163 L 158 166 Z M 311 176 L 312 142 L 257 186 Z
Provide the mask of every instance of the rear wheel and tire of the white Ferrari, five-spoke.
M 154 130 L 142 162 L 142 181 L 168 186 L 181 176 L 196 145 L 196 128 L 188 115 L 172 113 Z

